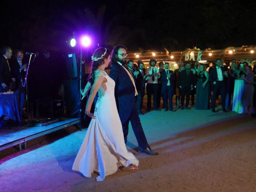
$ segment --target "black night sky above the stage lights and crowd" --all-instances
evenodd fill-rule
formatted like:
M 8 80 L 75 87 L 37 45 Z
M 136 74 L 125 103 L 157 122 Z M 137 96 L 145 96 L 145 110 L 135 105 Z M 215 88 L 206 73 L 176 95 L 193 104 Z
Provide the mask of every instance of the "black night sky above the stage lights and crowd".
M 124 44 L 129 51 L 222 49 L 256 44 L 252 0 L 14 1 L 1 6 L 0 45 L 68 51 L 74 31 L 94 45 Z

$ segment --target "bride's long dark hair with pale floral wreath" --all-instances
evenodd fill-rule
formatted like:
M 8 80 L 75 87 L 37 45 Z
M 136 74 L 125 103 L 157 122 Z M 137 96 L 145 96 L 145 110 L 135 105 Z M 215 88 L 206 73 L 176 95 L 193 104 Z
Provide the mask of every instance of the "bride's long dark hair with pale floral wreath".
M 104 53 L 106 52 L 106 54 L 104 55 Z M 98 48 L 94 51 L 93 55 L 92 55 L 92 63 L 91 63 L 91 72 L 90 75 L 88 77 L 89 82 L 91 84 L 94 83 L 94 71 L 98 69 L 98 67 L 100 65 L 103 64 L 104 59 L 108 58 L 110 56 L 110 50 L 106 49 L 106 48 Z M 98 59 L 100 58 L 100 59 Z

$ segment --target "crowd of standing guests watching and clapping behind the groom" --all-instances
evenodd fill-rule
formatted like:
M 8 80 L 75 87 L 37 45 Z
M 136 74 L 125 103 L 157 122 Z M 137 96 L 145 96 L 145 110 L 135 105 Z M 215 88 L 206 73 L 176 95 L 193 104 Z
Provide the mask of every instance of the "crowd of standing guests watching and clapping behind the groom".
M 221 98 L 222 111 L 227 112 L 232 109 L 232 98 L 234 94 L 235 80 L 244 80 L 244 88 L 239 90 L 240 103 L 243 106 L 242 114 L 252 114 L 256 107 L 256 61 L 250 65 L 247 62 L 230 61 L 227 66 L 221 59 L 215 63 L 205 64 L 195 62 L 178 62 L 178 68 L 170 70 L 168 62 L 157 62 L 151 59 L 150 67 L 144 68 L 142 60 L 137 64 L 133 60 L 128 61 L 128 68 L 136 80 L 138 90 L 137 109 L 139 114 L 144 114 L 142 110 L 145 90 L 147 94 L 146 109 L 149 112 L 160 110 L 160 100 L 163 100 L 164 111 L 175 112 L 178 109 L 208 110 L 216 112 L 216 100 Z M 175 95 L 175 109 L 173 97 Z M 186 97 L 185 97 L 186 96 Z M 186 101 L 185 101 L 186 99 Z M 191 100 L 191 103 L 190 103 Z M 190 105 L 189 105 L 190 104 Z

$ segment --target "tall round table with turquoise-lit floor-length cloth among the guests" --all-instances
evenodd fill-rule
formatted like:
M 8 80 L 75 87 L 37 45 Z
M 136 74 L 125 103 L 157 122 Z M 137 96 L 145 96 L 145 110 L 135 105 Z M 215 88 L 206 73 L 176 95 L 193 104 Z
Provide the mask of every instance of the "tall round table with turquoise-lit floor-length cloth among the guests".
M 242 106 L 242 99 L 244 93 L 244 80 L 236 79 L 233 94 L 233 107 L 232 111 L 239 114 L 244 112 L 244 106 Z

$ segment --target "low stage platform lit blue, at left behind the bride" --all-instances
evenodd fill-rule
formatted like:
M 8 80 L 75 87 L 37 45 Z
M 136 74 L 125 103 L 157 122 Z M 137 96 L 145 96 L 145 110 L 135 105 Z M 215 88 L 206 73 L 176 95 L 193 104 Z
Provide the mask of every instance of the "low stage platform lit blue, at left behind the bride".
M 0 128 L 0 151 L 16 145 L 22 150 L 21 145 L 26 148 L 29 140 L 79 123 L 79 118 L 58 118 L 58 122 L 46 126 L 3 126 Z

